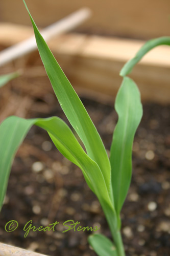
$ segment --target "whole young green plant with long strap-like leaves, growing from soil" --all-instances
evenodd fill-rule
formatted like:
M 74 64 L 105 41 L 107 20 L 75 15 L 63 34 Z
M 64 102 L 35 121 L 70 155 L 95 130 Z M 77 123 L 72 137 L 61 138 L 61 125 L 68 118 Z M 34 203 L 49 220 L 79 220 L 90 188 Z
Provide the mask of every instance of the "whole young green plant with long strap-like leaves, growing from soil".
M 25 3 L 25 1 L 23 0 Z M 27 8 L 27 5 L 25 3 Z M 28 8 L 27 8 L 28 10 Z M 140 93 L 135 82 L 127 77 L 134 65 L 152 48 L 170 44 L 169 37 L 148 41 L 120 72 L 123 82 L 116 100 L 118 114 L 110 159 L 81 100 L 64 75 L 52 52 L 39 33 L 28 10 L 34 28 L 37 47 L 54 92 L 73 129 L 82 140 L 86 152 L 68 125 L 58 117 L 23 119 L 8 117 L 0 125 L 0 209 L 6 194 L 11 163 L 17 148 L 33 124 L 47 131 L 58 150 L 80 167 L 84 178 L 98 197 L 105 213 L 113 242 L 102 234 L 89 236 L 89 243 L 99 256 L 125 256 L 120 234 L 120 210 L 126 199 L 132 175 L 132 144 L 142 117 Z

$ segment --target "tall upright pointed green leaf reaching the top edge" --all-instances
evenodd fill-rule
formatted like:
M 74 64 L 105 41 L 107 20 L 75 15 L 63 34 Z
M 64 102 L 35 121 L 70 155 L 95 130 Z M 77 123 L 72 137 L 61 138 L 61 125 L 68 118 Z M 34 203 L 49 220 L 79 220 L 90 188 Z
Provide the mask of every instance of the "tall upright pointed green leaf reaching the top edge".
M 27 8 L 24 0 L 23 3 Z M 96 131 L 96 128 L 85 110 L 84 105 L 75 90 L 72 88 L 52 52 L 46 45 L 43 37 L 39 33 L 30 12 L 29 15 L 34 28 L 39 54 L 61 108 L 67 116 L 70 124 L 74 127 L 75 131 L 84 143 L 88 156 L 99 165 L 109 190 L 111 175 L 110 162 L 101 137 Z

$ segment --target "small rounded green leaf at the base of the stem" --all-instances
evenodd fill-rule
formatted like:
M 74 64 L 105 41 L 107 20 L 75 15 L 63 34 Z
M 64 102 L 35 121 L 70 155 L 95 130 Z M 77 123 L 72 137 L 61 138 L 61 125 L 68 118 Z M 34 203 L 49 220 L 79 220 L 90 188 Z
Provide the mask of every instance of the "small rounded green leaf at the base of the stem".
M 115 246 L 103 234 L 92 234 L 88 237 L 88 242 L 99 256 L 117 256 Z

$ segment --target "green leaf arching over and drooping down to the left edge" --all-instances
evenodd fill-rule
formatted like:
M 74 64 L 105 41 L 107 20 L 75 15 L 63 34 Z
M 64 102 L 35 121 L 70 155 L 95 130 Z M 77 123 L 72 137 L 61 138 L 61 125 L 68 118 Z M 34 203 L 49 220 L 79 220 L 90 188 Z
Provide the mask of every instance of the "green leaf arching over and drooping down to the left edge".
M 7 189 L 11 163 L 17 148 L 33 124 L 48 132 L 58 150 L 78 165 L 89 187 L 98 196 L 102 206 L 113 211 L 105 180 L 99 166 L 84 152 L 68 125 L 58 117 L 23 119 L 12 116 L 0 125 L 0 209 Z M 102 188 L 102 193 L 101 193 Z

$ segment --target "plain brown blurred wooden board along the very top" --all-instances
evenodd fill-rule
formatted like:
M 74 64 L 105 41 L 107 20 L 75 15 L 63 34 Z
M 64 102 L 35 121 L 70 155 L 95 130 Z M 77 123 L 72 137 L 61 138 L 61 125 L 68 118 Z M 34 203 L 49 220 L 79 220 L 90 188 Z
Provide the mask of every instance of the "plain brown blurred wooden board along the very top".
M 169 35 L 168 0 L 29 0 L 28 7 L 39 26 L 46 27 L 82 7 L 92 10 L 92 17 L 79 31 L 112 36 L 149 39 Z M 1 22 L 30 25 L 22 1 L 0 1 Z

